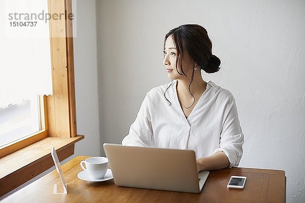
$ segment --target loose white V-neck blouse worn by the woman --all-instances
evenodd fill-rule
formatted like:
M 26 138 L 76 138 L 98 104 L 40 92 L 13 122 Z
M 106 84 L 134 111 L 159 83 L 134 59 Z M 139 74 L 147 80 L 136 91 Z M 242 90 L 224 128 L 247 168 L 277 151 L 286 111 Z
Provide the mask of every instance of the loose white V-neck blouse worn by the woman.
M 194 150 L 196 158 L 223 151 L 230 167 L 242 156 L 243 133 L 232 93 L 209 81 L 188 118 L 182 111 L 174 81 L 147 92 L 129 134 L 126 146 Z

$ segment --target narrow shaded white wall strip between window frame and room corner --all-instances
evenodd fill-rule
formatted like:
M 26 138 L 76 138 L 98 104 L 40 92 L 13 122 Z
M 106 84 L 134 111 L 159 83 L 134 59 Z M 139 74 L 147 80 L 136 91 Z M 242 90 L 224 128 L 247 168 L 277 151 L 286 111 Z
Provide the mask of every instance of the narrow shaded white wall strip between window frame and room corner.
M 75 144 L 77 155 L 99 156 L 96 1 L 73 0 L 75 99 L 77 133 L 85 138 Z M 71 158 L 72 158 L 71 157 Z

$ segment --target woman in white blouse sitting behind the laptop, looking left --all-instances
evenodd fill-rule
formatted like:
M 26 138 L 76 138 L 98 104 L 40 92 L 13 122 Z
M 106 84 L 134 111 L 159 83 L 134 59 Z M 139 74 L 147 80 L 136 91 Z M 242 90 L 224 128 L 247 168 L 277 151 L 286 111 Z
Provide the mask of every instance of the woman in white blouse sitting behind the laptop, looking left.
M 164 65 L 171 82 L 151 89 L 122 144 L 194 150 L 198 171 L 237 166 L 243 133 L 230 91 L 205 82 L 201 70 L 215 73 L 207 31 L 180 25 L 164 41 Z

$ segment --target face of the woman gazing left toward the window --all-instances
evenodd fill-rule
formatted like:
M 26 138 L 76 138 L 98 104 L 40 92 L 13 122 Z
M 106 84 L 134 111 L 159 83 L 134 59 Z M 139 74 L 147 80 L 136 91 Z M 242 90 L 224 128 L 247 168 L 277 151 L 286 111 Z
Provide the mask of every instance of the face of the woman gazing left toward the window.
M 171 36 L 169 36 L 165 41 L 165 47 L 163 53 L 164 53 L 163 64 L 165 65 L 168 78 L 171 80 L 186 79 L 184 75 L 179 75 L 177 72 L 178 70 L 179 73 L 182 74 L 181 63 L 179 61 L 177 63 L 177 70 L 176 70 L 177 49 L 174 45 L 174 41 Z M 179 57 L 181 57 L 181 55 Z M 182 67 L 184 73 L 187 75 L 188 78 L 193 71 L 193 62 L 191 58 L 186 54 L 184 54 L 184 57 L 182 59 Z

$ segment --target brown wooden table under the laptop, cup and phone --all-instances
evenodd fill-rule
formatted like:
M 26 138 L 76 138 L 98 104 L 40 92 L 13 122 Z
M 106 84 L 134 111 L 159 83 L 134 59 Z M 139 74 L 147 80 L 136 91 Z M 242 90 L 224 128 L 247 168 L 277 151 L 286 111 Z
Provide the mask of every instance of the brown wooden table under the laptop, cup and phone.
M 78 156 L 63 165 L 68 194 L 53 195 L 53 185 L 60 183 L 56 170 L 16 191 L 1 202 L 285 202 L 284 171 L 256 168 L 225 168 L 210 171 L 198 194 L 118 187 L 113 180 L 90 183 L 77 178 Z M 246 176 L 245 189 L 227 189 L 230 176 Z

